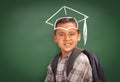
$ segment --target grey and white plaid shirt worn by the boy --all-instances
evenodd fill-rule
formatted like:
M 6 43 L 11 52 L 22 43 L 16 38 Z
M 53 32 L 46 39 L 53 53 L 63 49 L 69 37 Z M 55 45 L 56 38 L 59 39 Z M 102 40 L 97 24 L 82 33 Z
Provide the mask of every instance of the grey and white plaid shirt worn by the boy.
M 75 60 L 73 69 L 66 77 L 66 64 L 69 55 L 59 59 L 57 65 L 56 82 L 93 82 L 92 68 L 87 56 L 81 53 Z M 45 82 L 54 82 L 54 74 L 52 72 L 51 63 L 48 65 L 48 72 Z

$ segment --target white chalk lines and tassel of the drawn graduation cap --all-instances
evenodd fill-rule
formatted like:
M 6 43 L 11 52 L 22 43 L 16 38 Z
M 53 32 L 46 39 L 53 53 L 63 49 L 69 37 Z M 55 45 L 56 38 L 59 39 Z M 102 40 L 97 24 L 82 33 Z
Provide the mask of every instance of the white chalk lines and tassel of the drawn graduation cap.
M 80 14 L 80 15 L 82 15 L 82 16 L 84 16 L 83 19 L 76 21 L 76 23 L 77 23 L 77 28 L 78 28 L 78 23 L 84 21 L 84 25 L 83 25 L 83 39 L 84 39 L 84 45 L 86 45 L 86 42 L 87 42 L 87 23 L 86 23 L 86 19 L 88 18 L 87 15 L 85 15 L 85 14 L 83 14 L 83 13 L 81 13 L 81 12 L 79 12 L 79 11 L 73 9 L 73 8 L 70 8 L 70 7 L 67 7 L 67 6 L 62 6 L 62 7 L 61 7 L 60 9 L 58 9 L 52 16 L 50 16 L 50 17 L 45 21 L 45 23 L 47 23 L 47 24 L 49 24 L 49 25 L 51 25 L 51 26 L 54 26 L 54 30 L 56 30 L 56 29 L 57 29 L 57 28 L 55 27 L 56 22 L 53 24 L 53 23 L 51 23 L 51 22 L 49 22 L 49 21 L 50 21 L 54 16 L 56 16 L 61 10 L 64 10 L 64 15 L 66 16 L 66 15 L 67 15 L 67 9 L 68 9 L 68 10 L 71 10 L 71 11 L 73 11 L 73 12 L 75 12 L 75 13 L 78 13 L 78 14 Z M 63 18 L 63 17 L 62 17 L 62 18 Z M 75 18 L 75 17 L 73 17 L 73 18 Z M 57 20 L 59 20 L 59 19 L 57 19 Z M 57 21 L 57 20 L 56 20 L 56 21 Z M 68 28 L 68 29 L 69 29 L 69 28 Z M 68 29 L 64 29 L 64 30 L 68 30 Z

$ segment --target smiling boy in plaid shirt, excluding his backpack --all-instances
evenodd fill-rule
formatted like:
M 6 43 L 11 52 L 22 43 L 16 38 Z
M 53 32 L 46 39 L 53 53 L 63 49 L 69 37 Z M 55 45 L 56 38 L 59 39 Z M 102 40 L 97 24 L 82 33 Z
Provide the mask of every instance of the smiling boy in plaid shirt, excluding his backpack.
M 63 17 L 55 23 L 54 40 L 61 53 L 58 59 L 56 74 L 52 70 L 52 62 L 48 66 L 45 82 L 93 82 L 92 68 L 88 57 L 80 53 L 75 59 L 73 69 L 66 74 L 67 62 L 77 47 L 81 35 L 77 21 L 72 17 Z

